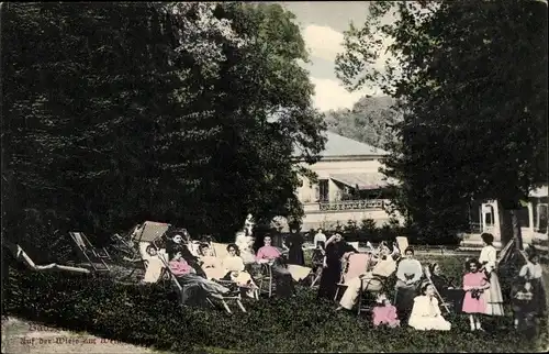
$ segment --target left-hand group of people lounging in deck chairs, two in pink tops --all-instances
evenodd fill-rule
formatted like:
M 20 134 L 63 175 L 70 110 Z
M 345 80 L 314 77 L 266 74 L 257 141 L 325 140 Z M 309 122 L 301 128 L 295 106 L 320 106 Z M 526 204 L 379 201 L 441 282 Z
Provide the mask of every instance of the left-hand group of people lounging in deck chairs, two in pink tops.
M 257 274 L 270 273 L 276 283 L 276 292 L 281 297 L 295 292 L 293 278 L 285 268 L 282 254 L 271 245 L 269 235 L 264 237 L 264 246 L 253 257 L 253 263 L 244 262 L 234 243 L 226 246 L 225 256 L 217 257 L 209 241 L 193 241 L 184 229 L 172 232 L 165 246 L 167 257 L 154 244 L 146 247 L 147 267 L 143 280 L 155 283 L 163 268 L 169 269 L 182 287 L 182 303 L 193 305 L 208 296 L 223 297 L 231 291 L 228 284 L 237 285 L 239 291 L 257 299 Z

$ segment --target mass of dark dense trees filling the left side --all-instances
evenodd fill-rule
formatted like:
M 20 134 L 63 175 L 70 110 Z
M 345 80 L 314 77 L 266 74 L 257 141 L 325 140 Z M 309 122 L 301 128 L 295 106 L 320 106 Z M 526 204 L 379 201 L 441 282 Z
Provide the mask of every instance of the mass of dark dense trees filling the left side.
M 9 3 L 2 30 L 2 234 L 301 217 L 290 157 L 325 124 L 280 5 Z

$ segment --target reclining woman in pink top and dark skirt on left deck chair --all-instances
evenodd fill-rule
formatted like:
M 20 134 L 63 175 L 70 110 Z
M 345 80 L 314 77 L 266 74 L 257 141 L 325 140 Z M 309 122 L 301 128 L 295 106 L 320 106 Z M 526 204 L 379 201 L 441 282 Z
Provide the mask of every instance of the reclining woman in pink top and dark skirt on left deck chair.
M 168 265 L 171 274 L 182 287 L 181 303 L 183 305 L 202 305 L 208 296 L 221 299 L 229 291 L 224 286 L 197 275 L 195 270 L 183 259 L 181 251 L 177 248 Z

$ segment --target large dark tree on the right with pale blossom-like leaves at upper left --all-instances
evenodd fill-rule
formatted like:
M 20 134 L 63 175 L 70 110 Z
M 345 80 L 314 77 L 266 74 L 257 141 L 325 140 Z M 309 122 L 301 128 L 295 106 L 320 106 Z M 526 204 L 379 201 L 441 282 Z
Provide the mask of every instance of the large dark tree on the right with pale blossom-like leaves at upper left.
M 337 59 L 349 88 L 381 86 L 404 120 L 385 173 L 402 181 L 397 206 L 433 234 L 462 229 L 467 203 L 518 209 L 547 182 L 547 3 L 369 4 Z M 386 24 L 386 16 L 396 20 Z M 372 65 L 392 40 L 384 70 Z M 505 212 L 504 241 L 512 212 Z M 513 228 L 519 232 L 516 215 Z

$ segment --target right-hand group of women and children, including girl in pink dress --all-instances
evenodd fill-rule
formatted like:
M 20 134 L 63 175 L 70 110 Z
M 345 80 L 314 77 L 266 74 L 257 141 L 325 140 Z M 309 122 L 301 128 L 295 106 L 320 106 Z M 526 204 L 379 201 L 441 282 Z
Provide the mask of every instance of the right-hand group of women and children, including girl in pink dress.
M 326 241 L 326 246 L 320 246 L 323 256 L 321 287 L 318 297 L 335 299 L 334 291 L 345 284 L 345 292 L 338 300 L 338 310 L 351 310 L 357 306 L 360 295 L 378 295 L 377 306 L 373 308 L 373 323 L 400 325 L 401 322 L 416 330 L 451 329 L 441 312 L 441 307 L 448 312 L 450 308 L 456 312 L 469 317 L 471 331 L 484 331 L 481 318 L 484 316 L 503 316 L 503 298 L 497 275 L 495 274 L 495 248 L 491 235 L 483 237 L 485 247 L 479 259 L 468 259 L 462 284 L 457 287 L 451 280 L 441 275 L 438 264 L 432 263 L 423 267 L 414 257 L 414 250 L 407 247 L 404 255 L 400 251 L 391 251 L 386 243 L 376 250 L 369 247 L 369 262 L 363 263 L 362 272 L 348 278 L 338 278 L 344 270 L 345 262 L 360 261 L 354 256 L 358 251 L 348 245 L 343 236 L 336 234 Z M 363 259 L 363 257 L 362 257 Z M 527 264 L 520 269 L 517 286 L 513 291 L 515 327 L 531 322 L 531 318 L 545 313 L 545 290 L 541 285 L 541 266 L 539 257 L 531 253 Z M 347 266 L 347 274 L 350 272 Z M 344 270 L 341 274 L 344 275 Z M 388 299 L 388 289 L 383 284 L 395 273 L 394 305 Z

